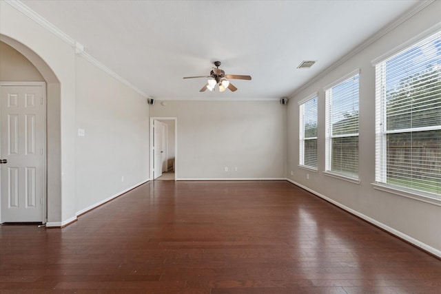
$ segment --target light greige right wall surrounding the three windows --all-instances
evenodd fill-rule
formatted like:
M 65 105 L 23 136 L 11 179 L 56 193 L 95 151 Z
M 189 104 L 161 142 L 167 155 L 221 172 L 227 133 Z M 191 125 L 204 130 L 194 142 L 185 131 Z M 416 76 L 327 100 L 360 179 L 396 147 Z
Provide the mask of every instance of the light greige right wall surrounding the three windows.
M 439 23 L 440 12 L 441 1 L 435 1 L 296 94 L 289 101 L 287 125 L 290 180 L 370 218 L 407 240 L 422 242 L 422 246 L 438 255 L 441 253 L 441 207 L 378 191 L 371 185 L 375 181 L 375 71 L 371 61 Z M 325 170 L 325 93 L 322 89 L 356 68 L 360 68 L 360 184 L 322 173 Z M 298 167 L 298 101 L 317 91 L 318 172 L 311 172 Z M 290 171 L 294 171 L 294 176 L 290 176 Z

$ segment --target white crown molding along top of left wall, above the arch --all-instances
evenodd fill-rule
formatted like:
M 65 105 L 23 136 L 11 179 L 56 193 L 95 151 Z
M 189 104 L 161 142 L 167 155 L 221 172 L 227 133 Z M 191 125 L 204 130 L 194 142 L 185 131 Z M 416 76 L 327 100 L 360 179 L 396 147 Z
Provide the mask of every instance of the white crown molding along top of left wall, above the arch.
M 147 98 L 149 95 L 145 94 L 145 92 L 139 90 L 138 87 L 135 87 L 131 83 L 129 83 L 125 78 L 119 76 L 119 74 L 116 74 L 116 72 L 110 70 L 109 67 L 103 65 L 103 63 L 97 61 L 94 59 L 93 56 L 88 54 L 84 51 L 83 45 L 81 43 L 75 41 L 72 39 L 68 34 L 65 34 L 62 30 L 57 28 L 55 25 L 47 21 L 45 18 L 43 18 L 40 14 L 37 12 L 34 12 L 34 10 L 30 9 L 28 6 L 26 6 L 23 2 L 19 0 L 4 0 L 6 3 L 8 3 L 13 8 L 19 10 L 19 12 L 23 13 L 26 17 L 29 17 L 32 19 L 32 21 L 35 21 L 41 27 L 45 28 L 45 30 L 48 30 L 48 32 L 54 34 L 55 36 L 59 37 L 62 41 L 65 43 L 68 43 L 70 47 L 72 47 L 75 50 L 75 53 L 79 56 L 82 56 L 84 59 L 88 60 L 90 63 L 98 67 L 100 70 L 103 70 L 106 74 L 112 76 L 117 81 L 123 83 L 124 85 L 127 85 L 127 87 L 130 87 L 132 90 L 134 90 L 136 93 L 140 94 L 141 96 Z

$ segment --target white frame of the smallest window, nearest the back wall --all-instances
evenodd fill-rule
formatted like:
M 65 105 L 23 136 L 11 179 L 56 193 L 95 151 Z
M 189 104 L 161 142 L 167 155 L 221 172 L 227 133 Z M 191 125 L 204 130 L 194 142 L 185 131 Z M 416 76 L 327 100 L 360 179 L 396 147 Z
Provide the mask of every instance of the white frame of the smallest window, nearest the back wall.
M 317 132 L 318 132 L 318 92 L 314 92 L 313 94 L 307 96 L 306 98 L 303 98 L 302 100 L 298 101 L 298 107 L 299 107 L 299 151 L 298 151 L 298 166 L 302 167 L 304 169 L 311 169 L 312 171 L 318 171 L 318 136 L 315 137 L 307 137 L 305 138 L 305 105 L 309 101 L 316 99 L 316 124 L 317 124 Z M 317 148 L 316 148 L 316 166 L 313 167 L 311 165 L 305 165 L 305 141 L 306 140 L 316 140 L 317 141 Z

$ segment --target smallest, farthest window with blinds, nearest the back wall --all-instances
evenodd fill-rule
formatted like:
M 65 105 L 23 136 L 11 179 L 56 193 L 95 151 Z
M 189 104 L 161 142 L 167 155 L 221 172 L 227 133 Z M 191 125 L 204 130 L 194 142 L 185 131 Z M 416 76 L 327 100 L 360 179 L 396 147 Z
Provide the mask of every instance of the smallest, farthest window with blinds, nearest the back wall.
M 299 165 L 317 169 L 317 93 L 304 101 L 300 101 Z

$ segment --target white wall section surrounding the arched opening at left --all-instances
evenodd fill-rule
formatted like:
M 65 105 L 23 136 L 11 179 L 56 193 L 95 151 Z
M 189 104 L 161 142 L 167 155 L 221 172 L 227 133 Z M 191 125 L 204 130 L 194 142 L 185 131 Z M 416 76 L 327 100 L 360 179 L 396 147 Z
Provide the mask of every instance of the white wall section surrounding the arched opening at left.
M 0 38 L 47 83 L 48 222 L 60 225 L 75 218 L 74 48 L 5 1 L 0 1 Z

